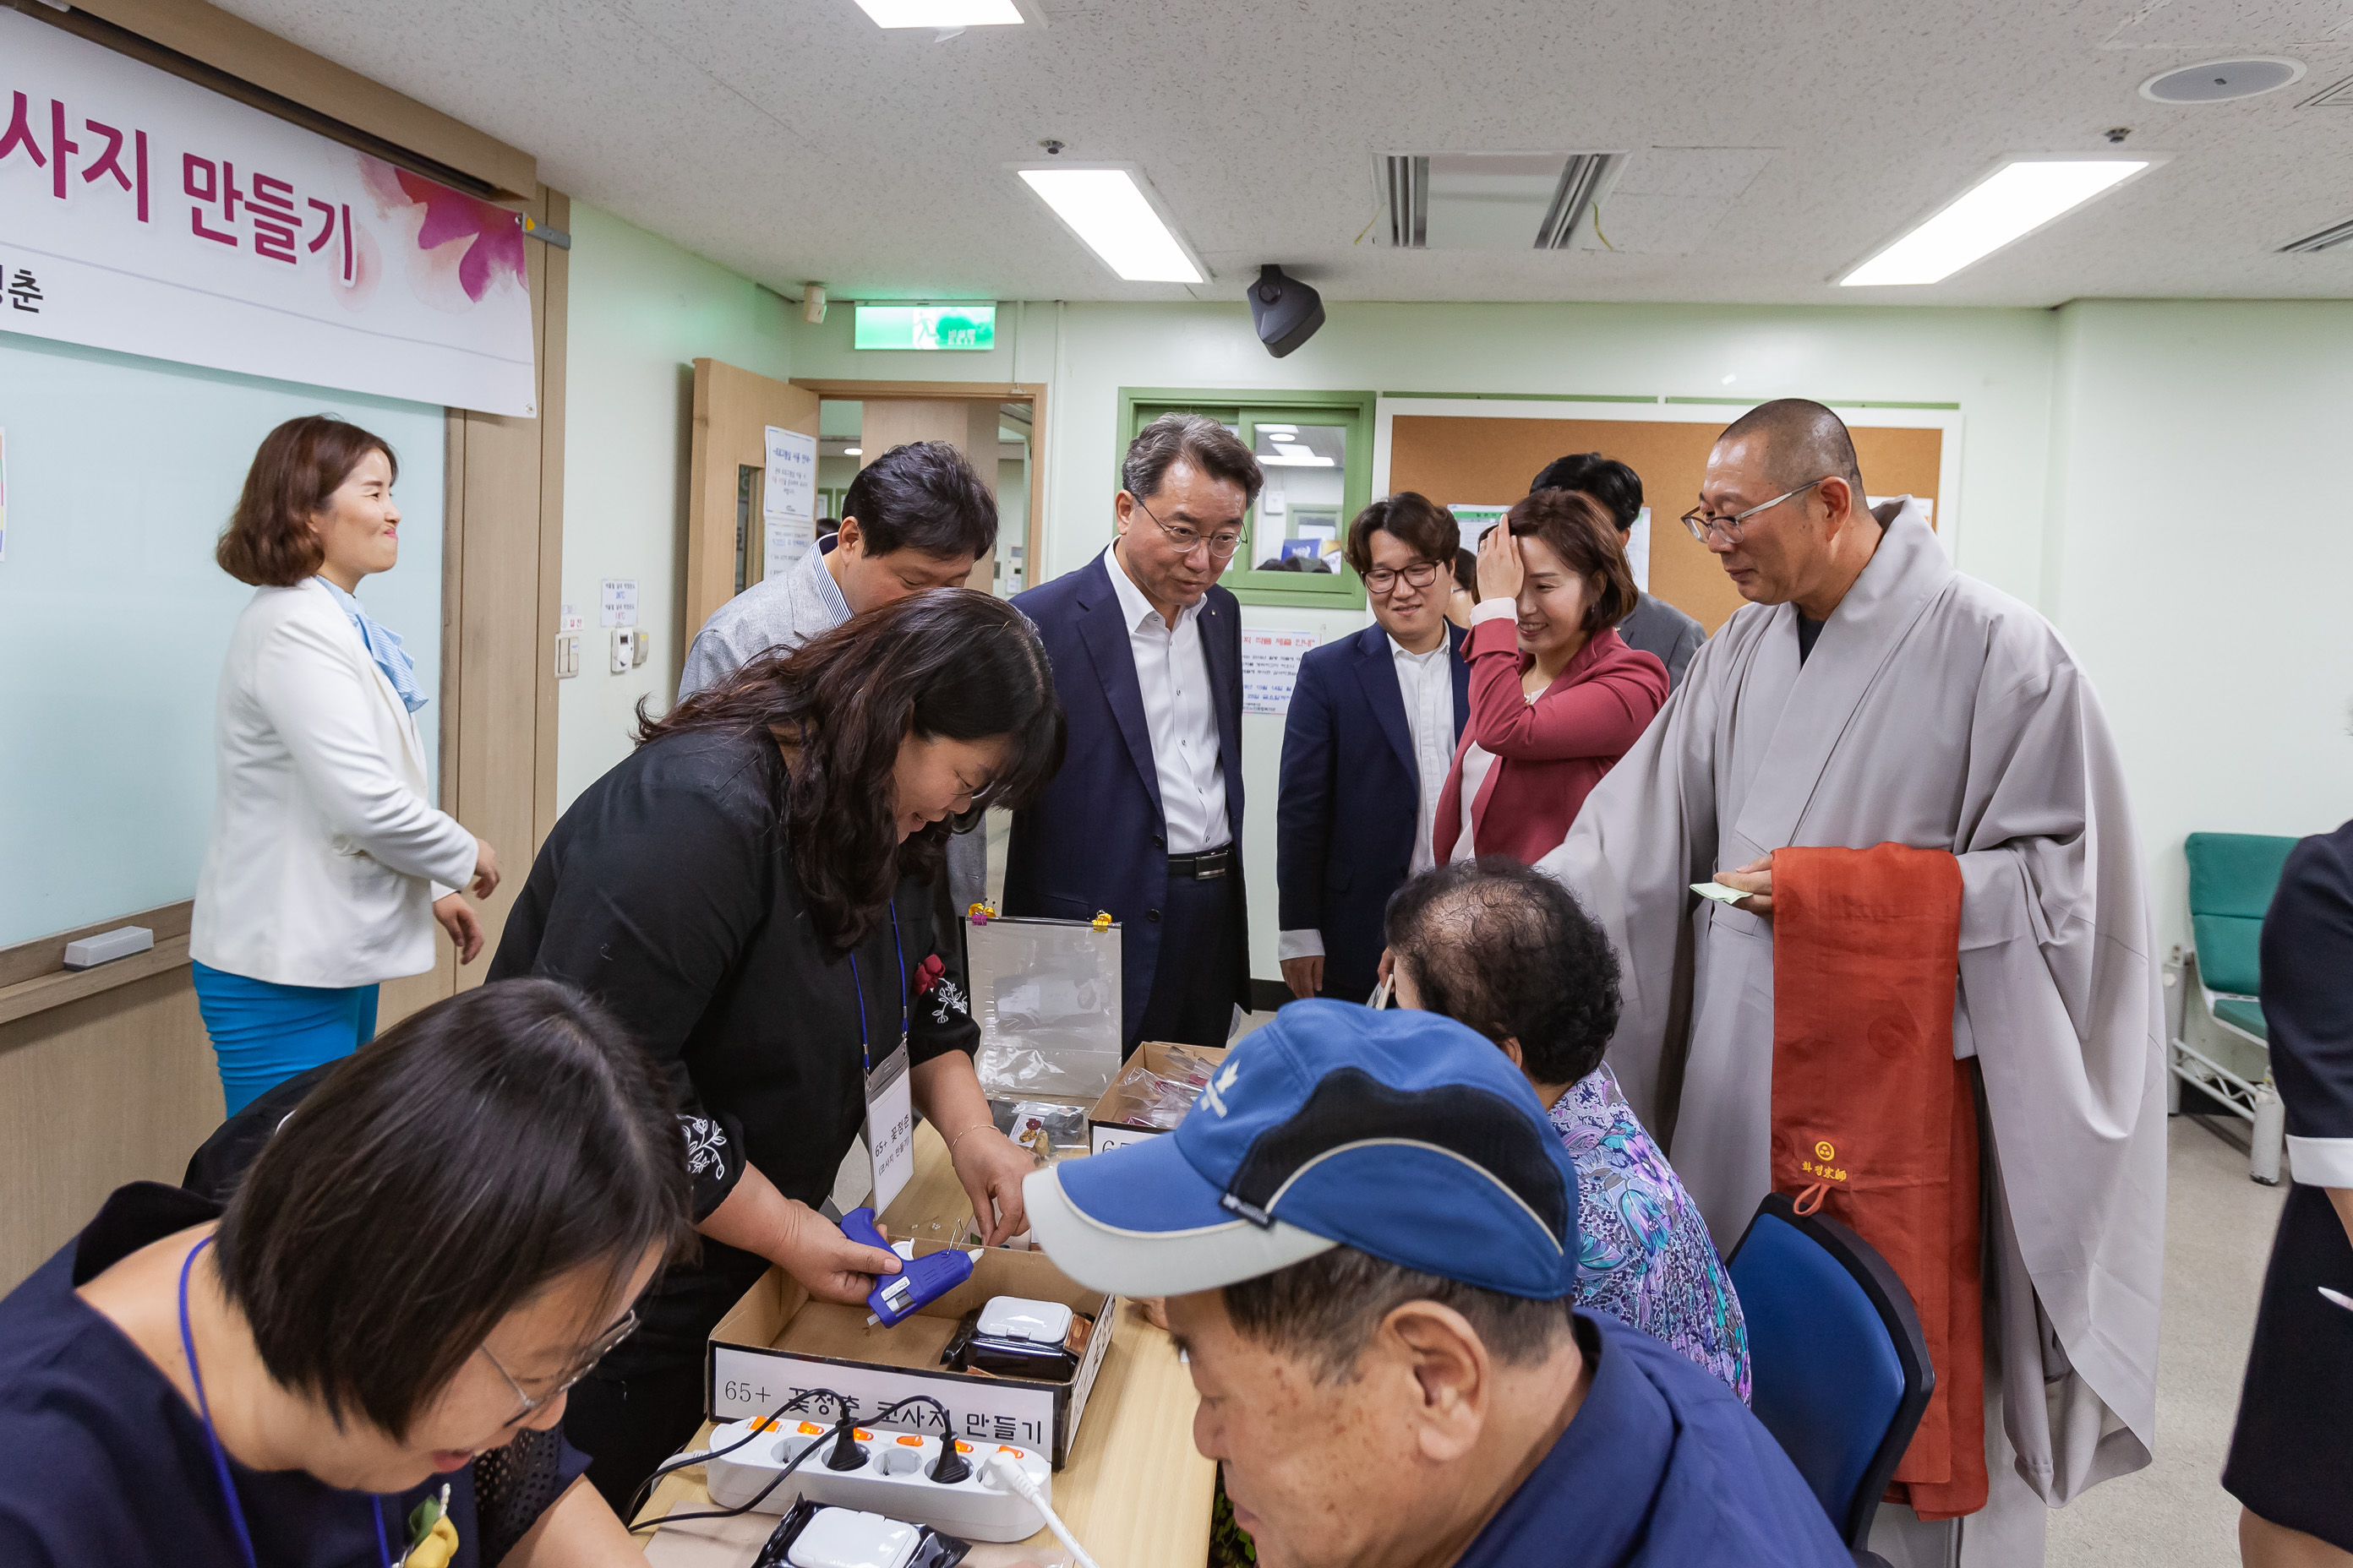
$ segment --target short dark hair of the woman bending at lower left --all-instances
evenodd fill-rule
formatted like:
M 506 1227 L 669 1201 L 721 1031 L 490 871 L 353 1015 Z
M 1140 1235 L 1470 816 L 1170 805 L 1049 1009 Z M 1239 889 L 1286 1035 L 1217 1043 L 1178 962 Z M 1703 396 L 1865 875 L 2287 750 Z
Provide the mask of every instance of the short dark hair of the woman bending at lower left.
M 569 985 L 494 980 L 320 1084 L 214 1241 L 271 1378 L 402 1436 L 541 1288 L 602 1267 L 619 1316 L 647 1248 L 689 1237 L 668 1081 Z

